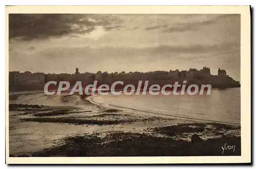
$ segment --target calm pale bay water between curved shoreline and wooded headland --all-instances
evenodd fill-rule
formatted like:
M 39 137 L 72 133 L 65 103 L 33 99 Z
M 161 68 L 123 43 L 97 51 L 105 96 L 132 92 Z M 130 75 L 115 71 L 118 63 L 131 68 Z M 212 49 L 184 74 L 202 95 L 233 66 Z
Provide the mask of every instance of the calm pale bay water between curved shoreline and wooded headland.
M 212 90 L 210 95 L 105 95 L 94 103 L 123 108 L 145 116 L 166 116 L 191 120 L 240 124 L 240 88 Z

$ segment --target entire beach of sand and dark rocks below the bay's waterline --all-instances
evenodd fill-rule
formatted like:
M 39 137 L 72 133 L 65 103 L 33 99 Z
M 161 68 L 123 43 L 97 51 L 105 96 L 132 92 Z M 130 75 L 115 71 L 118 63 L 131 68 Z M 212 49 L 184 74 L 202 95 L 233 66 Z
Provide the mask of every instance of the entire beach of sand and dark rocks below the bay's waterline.
M 10 156 L 241 155 L 239 125 L 143 117 L 88 104 L 94 108 L 9 104 Z

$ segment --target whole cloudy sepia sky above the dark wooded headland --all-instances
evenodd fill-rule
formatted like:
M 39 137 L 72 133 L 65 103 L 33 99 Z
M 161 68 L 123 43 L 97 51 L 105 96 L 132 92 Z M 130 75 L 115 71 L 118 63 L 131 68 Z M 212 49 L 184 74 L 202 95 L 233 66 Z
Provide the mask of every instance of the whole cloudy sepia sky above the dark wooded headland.
M 240 80 L 240 15 L 10 14 L 9 70 L 226 69 Z

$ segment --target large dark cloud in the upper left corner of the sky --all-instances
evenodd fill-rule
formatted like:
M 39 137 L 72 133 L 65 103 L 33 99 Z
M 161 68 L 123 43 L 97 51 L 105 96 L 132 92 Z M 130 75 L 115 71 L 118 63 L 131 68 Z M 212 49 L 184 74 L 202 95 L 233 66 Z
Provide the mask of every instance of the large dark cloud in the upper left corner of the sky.
M 100 14 L 9 14 L 9 38 L 30 40 L 69 34 L 84 34 L 102 26 L 111 30 L 121 20 Z

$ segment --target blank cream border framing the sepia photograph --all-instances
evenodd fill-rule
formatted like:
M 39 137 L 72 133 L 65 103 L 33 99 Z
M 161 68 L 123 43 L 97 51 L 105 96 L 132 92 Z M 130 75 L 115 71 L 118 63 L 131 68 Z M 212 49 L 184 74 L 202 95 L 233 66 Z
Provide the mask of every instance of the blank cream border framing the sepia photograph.
M 241 156 L 187 157 L 9 157 L 8 52 L 6 52 L 6 162 L 8 164 L 160 164 L 251 162 L 251 69 L 249 6 L 7 6 L 11 13 L 241 14 Z

